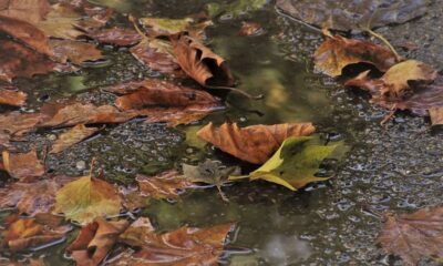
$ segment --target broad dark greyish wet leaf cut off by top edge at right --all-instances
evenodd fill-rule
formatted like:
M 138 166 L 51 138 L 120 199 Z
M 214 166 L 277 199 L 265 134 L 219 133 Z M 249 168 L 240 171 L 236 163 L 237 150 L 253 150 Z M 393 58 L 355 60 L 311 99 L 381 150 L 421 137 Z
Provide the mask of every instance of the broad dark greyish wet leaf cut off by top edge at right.
M 277 0 L 285 13 L 321 29 L 359 30 L 404 23 L 426 13 L 429 0 Z

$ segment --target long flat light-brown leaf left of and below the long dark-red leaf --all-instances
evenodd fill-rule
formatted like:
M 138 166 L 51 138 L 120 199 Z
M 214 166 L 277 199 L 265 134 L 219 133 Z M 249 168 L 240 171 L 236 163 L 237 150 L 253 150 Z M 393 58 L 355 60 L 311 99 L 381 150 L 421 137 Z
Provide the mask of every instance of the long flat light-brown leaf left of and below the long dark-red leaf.
M 51 108 L 45 108 L 50 110 Z M 54 112 L 54 110 L 42 111 Z M 95 106 L 90 103 L 73 103 L 55 110 L 50 119 L 43 121 L 39 127 L 62 127 L 76 124 L 106 124 L 106 123 L 122 123 L 135 117 L 137 114 L 134 112 L 120 112 L 111 105 Z

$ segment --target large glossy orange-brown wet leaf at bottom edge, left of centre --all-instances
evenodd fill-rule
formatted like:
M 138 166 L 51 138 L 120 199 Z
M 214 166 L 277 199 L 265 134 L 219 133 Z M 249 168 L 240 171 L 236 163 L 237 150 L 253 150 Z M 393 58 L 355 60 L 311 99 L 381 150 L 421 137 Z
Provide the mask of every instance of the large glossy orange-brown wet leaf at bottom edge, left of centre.
M 148 218 L 142 217 L 120 236 L 120 242 L 140 250 L 124 253 L 112 265 L 216 265 L 231 227 L 182 227 L 156 234 Z

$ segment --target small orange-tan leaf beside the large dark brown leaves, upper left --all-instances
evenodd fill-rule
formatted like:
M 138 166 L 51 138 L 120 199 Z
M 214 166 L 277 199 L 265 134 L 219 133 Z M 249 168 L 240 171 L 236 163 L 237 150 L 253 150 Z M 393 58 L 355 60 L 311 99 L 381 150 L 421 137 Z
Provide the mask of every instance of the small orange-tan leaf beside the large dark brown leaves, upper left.
M 102 59 L 102 52 L 91 43 L 72 40 L 50 40 L 50 45 L 54 51 L 54 59 L 61 63 L 70 60 L 74 64 L 81 64 L 84 61 Z

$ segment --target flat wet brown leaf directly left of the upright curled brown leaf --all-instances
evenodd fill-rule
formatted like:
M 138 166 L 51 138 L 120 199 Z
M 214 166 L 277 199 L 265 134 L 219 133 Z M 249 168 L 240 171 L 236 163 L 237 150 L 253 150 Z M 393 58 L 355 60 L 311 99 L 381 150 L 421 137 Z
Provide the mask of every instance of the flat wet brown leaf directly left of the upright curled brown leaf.
M 177 60 L 173 55 L 169 42 L 159 39 L 144 39 L 130 52 L 140 62 L 164 74 L 183 75 Z

